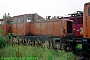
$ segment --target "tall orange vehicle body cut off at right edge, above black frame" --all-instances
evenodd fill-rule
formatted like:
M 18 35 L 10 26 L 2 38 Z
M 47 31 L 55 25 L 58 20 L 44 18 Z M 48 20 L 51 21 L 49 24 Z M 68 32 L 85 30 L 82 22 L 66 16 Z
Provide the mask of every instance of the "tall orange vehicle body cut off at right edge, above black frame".
M 83 36 L 90 38 L 90 2 L 84 4 Z

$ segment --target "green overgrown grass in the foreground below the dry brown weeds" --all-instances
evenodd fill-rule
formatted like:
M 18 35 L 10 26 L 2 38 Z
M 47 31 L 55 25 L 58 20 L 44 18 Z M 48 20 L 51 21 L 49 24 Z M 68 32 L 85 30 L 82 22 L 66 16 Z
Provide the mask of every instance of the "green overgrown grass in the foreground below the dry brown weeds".
M 0 57 L 37 57 L 38 60 L 74 60 L 75 56 L 70 52 L 44 49 L 41 47 L 32 47 L 24 45 L 6 46 L 0 49 Z

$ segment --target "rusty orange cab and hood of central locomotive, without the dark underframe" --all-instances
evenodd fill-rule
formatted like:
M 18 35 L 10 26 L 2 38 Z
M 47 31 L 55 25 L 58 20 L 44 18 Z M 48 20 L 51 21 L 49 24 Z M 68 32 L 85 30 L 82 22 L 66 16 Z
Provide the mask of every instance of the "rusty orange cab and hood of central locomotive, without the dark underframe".
M 26 14 L 12 18 L 13 35 L 61 36 L 73 33 L 73 22 L 69 19 L 43 19 L 37 14 Z M 69 28 L 71 27 L 71 28 Z

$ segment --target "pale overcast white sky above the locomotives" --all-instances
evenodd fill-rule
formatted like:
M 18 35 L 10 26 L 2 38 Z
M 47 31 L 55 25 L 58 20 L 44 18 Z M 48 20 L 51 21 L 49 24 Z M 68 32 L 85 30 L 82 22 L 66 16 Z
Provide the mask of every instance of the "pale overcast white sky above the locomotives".
M 38 13 L 45 17 L 64 16 L 83 11 L 84 3 L 90 0 L 0 0 L 0 18 L 4 13 L 11 16 Z

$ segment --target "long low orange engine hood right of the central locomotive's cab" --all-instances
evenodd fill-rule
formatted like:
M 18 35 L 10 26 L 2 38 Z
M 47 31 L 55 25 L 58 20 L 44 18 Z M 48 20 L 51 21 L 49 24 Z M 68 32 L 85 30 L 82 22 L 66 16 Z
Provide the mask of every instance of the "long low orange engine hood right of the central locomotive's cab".
M 35 35 L 51 35 L 51 36 L 62 36 L 67 33 L 67 22 L 68 20 L 46 20 L 41 22 L 35 22 Z M 69 21 L 71 22 L 71 21 Z M 73 23 L 72 26 L 73 30 Z M 63 32 L 65 30 L 65 32 Z

